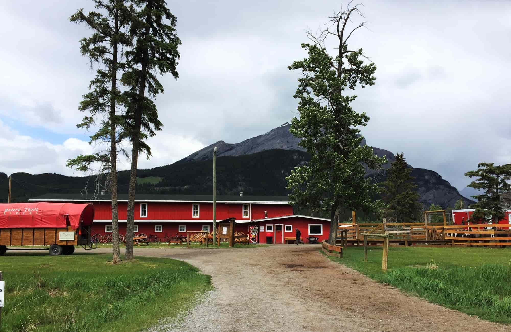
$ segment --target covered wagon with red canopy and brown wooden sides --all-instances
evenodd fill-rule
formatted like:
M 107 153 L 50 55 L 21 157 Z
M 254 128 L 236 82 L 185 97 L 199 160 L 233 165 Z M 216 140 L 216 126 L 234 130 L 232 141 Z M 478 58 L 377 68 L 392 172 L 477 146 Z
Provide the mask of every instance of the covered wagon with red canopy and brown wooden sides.
M 0 204 L 0 255 L 10 246 L 49 246 L 50 255 L 70 255 L 75 246 L 92 249 L 92 204 Z M 19 249 L 18 249 L 19 250 Z

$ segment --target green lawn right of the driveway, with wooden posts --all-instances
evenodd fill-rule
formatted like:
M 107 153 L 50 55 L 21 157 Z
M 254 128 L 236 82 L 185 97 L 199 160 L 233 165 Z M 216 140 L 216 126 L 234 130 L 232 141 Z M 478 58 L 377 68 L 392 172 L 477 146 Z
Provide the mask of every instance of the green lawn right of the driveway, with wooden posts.
M 392 248 L 388 271 L 382 248 L 348 248 L 329 257 L 406 293 L 482 319 L 511 324 L 511 250 L 484 248 Z

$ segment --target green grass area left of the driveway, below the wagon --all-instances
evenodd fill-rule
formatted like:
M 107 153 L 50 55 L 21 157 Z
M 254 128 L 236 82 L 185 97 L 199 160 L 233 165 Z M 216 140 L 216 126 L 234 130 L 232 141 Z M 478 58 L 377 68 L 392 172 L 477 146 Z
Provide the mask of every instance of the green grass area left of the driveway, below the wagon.
M 211 289 L 210 276 L 174 259 L 19 253 L 0 257 L 4 331 L 138 331 L 174 317 Z

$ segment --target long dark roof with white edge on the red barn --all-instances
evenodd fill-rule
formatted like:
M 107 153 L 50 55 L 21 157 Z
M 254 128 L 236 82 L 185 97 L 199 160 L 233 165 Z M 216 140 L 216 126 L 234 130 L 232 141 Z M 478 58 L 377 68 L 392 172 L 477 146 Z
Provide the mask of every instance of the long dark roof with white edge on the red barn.
M 127 202 L 127 194 L 117 196 L 119 202 Z M 29 201 L 37 202 L 110 202 L 110 194 L 44 194 L 33 197 Z M 213 195 L 154 195 L 136 194 L 135 202 L 198 202 L 212 203 Z M 239 196 L 239 195 L 217 195 L 217 203 L 268 203 L 288 204 L 287 196 Z

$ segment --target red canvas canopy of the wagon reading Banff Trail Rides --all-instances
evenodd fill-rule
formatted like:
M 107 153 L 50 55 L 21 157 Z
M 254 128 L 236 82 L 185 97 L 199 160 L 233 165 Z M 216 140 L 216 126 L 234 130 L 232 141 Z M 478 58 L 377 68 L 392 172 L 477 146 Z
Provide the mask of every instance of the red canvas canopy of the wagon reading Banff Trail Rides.
M 77 229 L 80 221 L 91 225 L 92 204 L 73 203 L 13 203 L 0 204 L 0 228 L 64 228 Z

